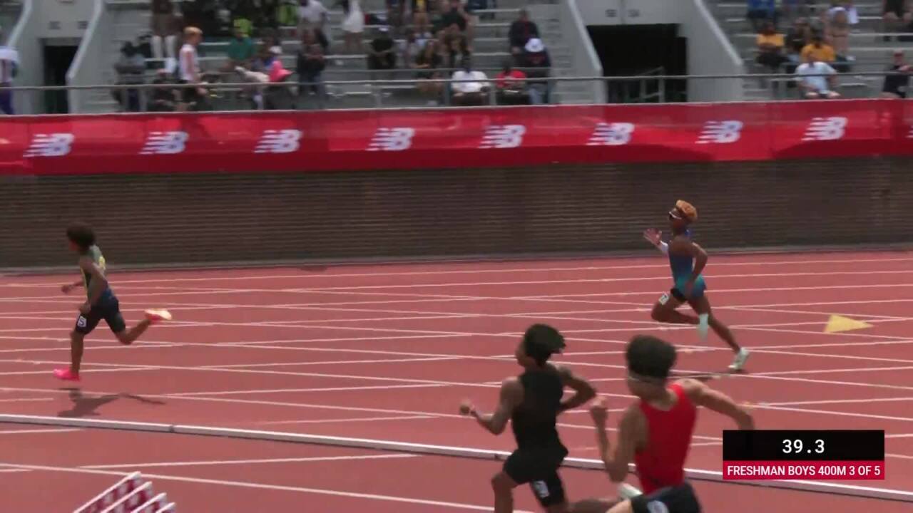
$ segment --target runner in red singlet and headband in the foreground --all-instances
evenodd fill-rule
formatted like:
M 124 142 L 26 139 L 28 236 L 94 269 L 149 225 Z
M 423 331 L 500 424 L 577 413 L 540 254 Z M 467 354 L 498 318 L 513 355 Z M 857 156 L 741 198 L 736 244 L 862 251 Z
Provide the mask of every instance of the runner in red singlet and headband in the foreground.
M 614 455 L 605 433 L 607 410 L 600 401 L 591 414 L 596 425 L 605 470 L 614 483 L 628 475 L 633 461 L 643 493 L 619 487 L 623 500 L 587 499 L 574 505 L 574 513 L 700 513 L 694 488 L 685 479 L 685 459 L 698 419 L 698 406 L 731 418 L 739 429 L 754 429 L 750 411 L 728 395 L 703 382 L 685 379 L 669 383 L 676 362 L 675 347 L 665 340 L 637 335 L 625 353 L 628 390 L 639 400 L 622 415 Z

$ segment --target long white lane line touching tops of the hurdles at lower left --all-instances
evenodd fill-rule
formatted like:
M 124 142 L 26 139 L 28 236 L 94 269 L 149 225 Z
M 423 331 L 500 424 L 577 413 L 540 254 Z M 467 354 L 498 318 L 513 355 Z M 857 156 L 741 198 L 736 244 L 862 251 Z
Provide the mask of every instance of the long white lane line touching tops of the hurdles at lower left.
M 74 474 L 95 474 L 100 476 L 117 476 L 123 477 L 126 476 L 126 473 L 117 472 L 114 470 L 96 470 L 91 468 L 69 468 L 66 466 L 43 466 L 43 465 L 22 465 L 22 464 L 13 464 L 13 463 L 2 463 L 0 466 L 7 466 L 11 468 L 19 468 L 25 470 L 41 470 L 47 472 L 66 472 Z M 194 483 L 199 485 L 218 485 L 223 487 L 239 487 L 239 488 L 252 488 L 258 490 L 274 490 L 274 491 L 286 491 L 286 492 L 296 492 L 301 494 L 313 494 L 313 495 L 326 495 L 326 496 L 335 496 L 335 497 L 347 497 L 347 498 L 363 498 L 371 500 L 382 500 L 389 502 L 400 502 L 407 504 L 420 504 L 423 506 L 434 506 L 437 508 L 455 508 L 455 509 L 471 509 L 474 511 L 490 511 L 490 506 L 475 506 L 471 504 L 462 504 L 455 502 L 442 502 L 436 500 L 425 500 L 421 498 L 410 498 L 410 497 L 398 497 L 398 496 L 386 496 L 386 495 L 376 495 L 376 494 L 363 494 L 357 492 L 347 492 L 341 490 L 328 490 L 324 488 L 308 488 L 308 487 L 285 487 L 279 485 L 268 485 L 265 483 L 251 483 L 251 482 L 241 482 L 241 481 L 227 481 L 221 479 L 204 479 L 201 477 L 184 477 L 184 476 L 167 476 L 163 474 L 143 474 L 143 477 L 147 477 L 152 480 L 159 481 L 175 481 L 175 482 L 184 482 L 184 483 Z M 518 511 L 518 513 L 531 513 L 530 511 Z

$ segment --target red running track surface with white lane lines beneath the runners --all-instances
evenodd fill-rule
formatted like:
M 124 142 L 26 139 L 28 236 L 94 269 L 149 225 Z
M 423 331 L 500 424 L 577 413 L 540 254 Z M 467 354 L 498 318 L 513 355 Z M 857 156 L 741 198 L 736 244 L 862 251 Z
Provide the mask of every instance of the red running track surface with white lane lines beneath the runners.
M 713 257 L 708 293 L 717 315 L 754 350 L 750 373 L 715 386 L 758 403 L 759 427 L 885 429 L 887 479 L 855 484 L 913 492 L 911 263 L 907 253 Z M 49 373 L 68 361 L 79 298 L 59 295 L 67 279 L 0 278 L 2 413 L 509 449 L 509 435 L 483 433 L 456 415 L 456 405 L 464 397 L 493 405 L 497 382 L 517 372 L 509 355 L 519 332 L 534 321 L 568 336 L 561 360 L 597 383 L 614 409 L 631 401 L 621 351 L 635 332 L 676 342 L 683 372 L 721 372 L 730 358 L 712 336 L 701 341 L 694 330 L 660 331 L 649 321 L 650 304 L 670 281 L 659 258 L 122 273 L 111 281 L 128 321 L 160 306 L 175 321 L 131 347 L 100 327 L 89 337 L 81 390 L 71 391 Z M 825 334 L 830 314 L 874 327 Z M 561 422 L 572 455 L 595 457 L 588 415 Z M 702 414 L 689 467 L 719 470 L 724 427 Z M 275 459 L 294 461 L 262 461 Z M 0 424 L 0 463 L 12 490 L 0 495 L 0 510 L 18 511 L 74 508 L 134 470 L 156 476 L 156 488 L 182 510 L 485 510 L 488 476 L 498 468 L 443 456 L 9 424 Z M 564 476 L 574 498 L 614 490 L 595 471 Z M 909 508 L 733 484 L 698 489 L 710 512 L 734 501 L 746 512 Z M 536 509 L 528 490 L 517 496 L 519 508 Z

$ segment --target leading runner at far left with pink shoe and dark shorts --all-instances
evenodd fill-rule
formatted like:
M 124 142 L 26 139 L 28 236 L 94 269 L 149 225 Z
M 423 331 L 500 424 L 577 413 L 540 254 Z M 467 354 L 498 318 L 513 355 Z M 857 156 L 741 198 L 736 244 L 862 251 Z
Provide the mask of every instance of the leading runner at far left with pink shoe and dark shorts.
M 67 239 L 70 249 L 79 255 L 79 272 L 82 276 L 79 281 L 68 283 L 60 289 L 64 294 L 69 294 L 74 288 L 85 287 L 86 302 L 79 306 L 76 327 L 69 334 L 70 366 L 68 369 L 55 370 L 54 375 L 64 381 L 78 382 L 83 339 L 95 330 L 101 319 L 105 319 L 121 344 L 126 345 L 138 339 L 153 323 L 171 320 L 171 314 L 168 310 L 146 310 L 146 319 L 127 330 L 127 324 L 121 315 L 121 305 L 108 286 L 105 257 L 101 255 L 99 246 L 95 246 L 95 232 L 87 225 L 72 225 L 67 228 Z

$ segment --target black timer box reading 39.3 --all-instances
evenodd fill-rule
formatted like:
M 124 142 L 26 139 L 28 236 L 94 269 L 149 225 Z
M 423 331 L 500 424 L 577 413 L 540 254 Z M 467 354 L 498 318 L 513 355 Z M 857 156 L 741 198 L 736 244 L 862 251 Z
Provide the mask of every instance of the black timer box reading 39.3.
M 724 461 L 884 461 L 885 432 L 724 431 Z

